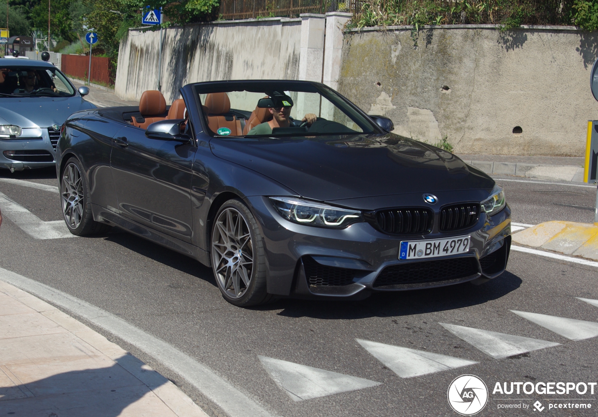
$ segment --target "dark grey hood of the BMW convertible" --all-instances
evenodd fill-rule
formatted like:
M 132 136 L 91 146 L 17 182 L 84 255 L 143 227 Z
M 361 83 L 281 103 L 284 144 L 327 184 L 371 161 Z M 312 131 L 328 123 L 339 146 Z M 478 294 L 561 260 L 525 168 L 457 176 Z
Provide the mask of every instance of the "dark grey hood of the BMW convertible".
M 299 196 L 331 201 L 434 191 L 485 189 L 494 181 L 453 154 L 385 136 L 213 138 L 212 152 L 280 182 Z

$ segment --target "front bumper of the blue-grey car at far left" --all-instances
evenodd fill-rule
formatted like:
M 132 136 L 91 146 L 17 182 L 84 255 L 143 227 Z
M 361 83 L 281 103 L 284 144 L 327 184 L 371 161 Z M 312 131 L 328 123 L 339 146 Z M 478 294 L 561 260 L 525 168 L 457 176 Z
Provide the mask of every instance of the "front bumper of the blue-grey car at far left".
M 48 129 L 35 130 L 39 134 L 33 137 L 0 138 L 0 168 L 22 171 L 56 165 L 56 151 Z

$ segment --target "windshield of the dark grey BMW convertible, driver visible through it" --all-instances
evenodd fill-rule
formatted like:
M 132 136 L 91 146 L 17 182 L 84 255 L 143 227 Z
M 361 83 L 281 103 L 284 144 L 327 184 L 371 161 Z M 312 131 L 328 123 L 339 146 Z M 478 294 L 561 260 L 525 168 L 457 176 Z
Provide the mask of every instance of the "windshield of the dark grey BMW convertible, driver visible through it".
M 197 84 L 215 136 L 321 136 L 379 133 L 354 105 L 323 84 L 228 81 Z

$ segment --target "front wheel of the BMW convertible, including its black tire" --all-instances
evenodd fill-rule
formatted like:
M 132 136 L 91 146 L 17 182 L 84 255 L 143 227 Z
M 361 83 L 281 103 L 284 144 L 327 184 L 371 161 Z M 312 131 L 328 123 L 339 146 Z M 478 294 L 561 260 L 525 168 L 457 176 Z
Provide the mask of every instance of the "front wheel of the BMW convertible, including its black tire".
M 270 301 L 266 252 L 257 221 L 237 199 L 219 209 L 212 224 L 210 257 L 218 288 L 227 302 L 249 307 Z

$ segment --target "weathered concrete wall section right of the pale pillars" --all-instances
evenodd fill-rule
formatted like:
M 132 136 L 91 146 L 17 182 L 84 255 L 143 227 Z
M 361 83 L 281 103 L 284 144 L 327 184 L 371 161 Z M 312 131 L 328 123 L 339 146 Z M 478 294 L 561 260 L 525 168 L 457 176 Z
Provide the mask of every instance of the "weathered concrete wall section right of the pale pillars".
M 597 48 L 597 32 L 575 28 L 441 26 L 420 31 L 417 47 L 409 28 L 352 31 L 338 91 L 397 133 L 447 135 L 458 153 L 582 156 L 587 120 L 598 118 Z

